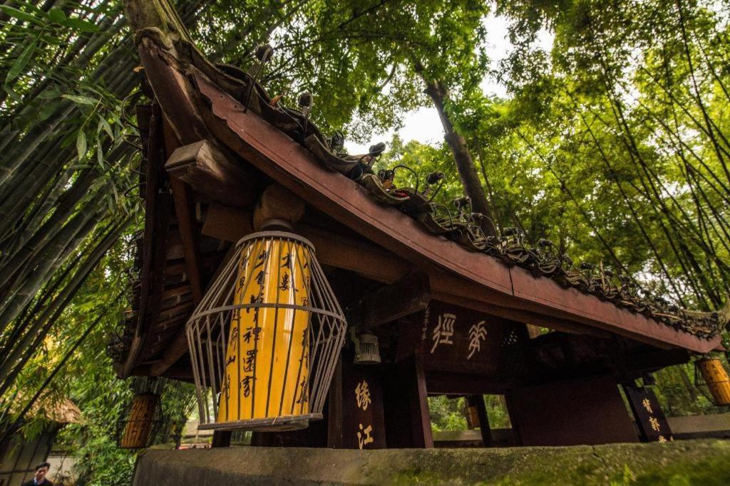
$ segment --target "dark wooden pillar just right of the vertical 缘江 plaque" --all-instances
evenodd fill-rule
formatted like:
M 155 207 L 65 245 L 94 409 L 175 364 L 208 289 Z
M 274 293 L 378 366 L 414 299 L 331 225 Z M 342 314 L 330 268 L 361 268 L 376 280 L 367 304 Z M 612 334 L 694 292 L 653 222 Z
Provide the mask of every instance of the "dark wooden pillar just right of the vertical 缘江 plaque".
M 434 447 L 420 354 L 391 365 L 385 375 L 385 440 L 388 447 Z

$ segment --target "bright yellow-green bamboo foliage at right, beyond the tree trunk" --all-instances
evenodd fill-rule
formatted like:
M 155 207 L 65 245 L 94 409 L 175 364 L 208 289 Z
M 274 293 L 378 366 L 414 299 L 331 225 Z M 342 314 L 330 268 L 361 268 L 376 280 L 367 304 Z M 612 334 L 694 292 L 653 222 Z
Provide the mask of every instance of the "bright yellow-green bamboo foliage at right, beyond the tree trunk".
M 609 263 L 644 273 L 680 305 L 721 307 L 730 291 L 727 4 L 564 7 L 542 12 L 556 31 L 551 72 L 515 86 L 549 86 L 531 100 L 539 125 L 511 130 L 515 155 L 536 160 Z

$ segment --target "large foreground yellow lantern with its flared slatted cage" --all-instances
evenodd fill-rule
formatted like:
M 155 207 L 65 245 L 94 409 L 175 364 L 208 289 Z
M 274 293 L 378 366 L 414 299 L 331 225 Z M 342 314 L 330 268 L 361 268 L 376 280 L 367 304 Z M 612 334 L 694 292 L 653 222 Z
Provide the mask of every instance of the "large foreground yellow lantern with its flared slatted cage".
M 321 419 L 346 326 L 309 241 L 273 231 L 240 240 L 185 328 L 199 428 Z

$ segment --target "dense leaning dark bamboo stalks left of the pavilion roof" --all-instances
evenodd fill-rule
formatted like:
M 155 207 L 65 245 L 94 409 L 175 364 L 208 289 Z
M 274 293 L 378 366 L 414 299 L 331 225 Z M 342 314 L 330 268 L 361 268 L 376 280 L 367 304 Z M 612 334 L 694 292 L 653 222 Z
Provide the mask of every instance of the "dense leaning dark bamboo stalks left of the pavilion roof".
M 200 7 L 184 1 L 181 11 L 191 21 Z M 6 1 L 0 21 L 0 414 L 7 418 L 11 407 L 26 405 L 19 391 L 26 401 L 36 391 L 13 386 L 26 364 L 43 354 L 47 337 L 64 334 L 69 304 L 139 224 L 132 121 L 139 74 L 116 2 Z M 110 282 L 124 288 L 120 275 Z M 119 301 L 110 293 L 89 310 L 107 321 L 116 314 L 113 322 Z M 68 337 L 65 348 L 73 344 Z

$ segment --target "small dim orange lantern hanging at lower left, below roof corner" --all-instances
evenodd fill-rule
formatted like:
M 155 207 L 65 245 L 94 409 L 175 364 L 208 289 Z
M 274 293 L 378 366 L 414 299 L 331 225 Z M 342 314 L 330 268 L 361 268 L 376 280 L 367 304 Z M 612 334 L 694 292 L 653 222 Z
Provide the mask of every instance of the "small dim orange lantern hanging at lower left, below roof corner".
M 144 449 L 155 439 L 162 425 L 162 404 L 157 393 L 137 393 L 117 426 L 120 449 Z

